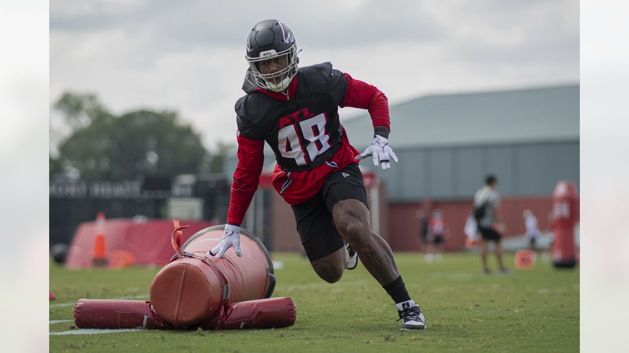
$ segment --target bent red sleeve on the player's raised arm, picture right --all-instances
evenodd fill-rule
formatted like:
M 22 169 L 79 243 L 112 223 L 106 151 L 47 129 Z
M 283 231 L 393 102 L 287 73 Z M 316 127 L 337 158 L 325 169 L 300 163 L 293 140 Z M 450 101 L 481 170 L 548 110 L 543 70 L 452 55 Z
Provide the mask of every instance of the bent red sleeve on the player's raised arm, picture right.
M 389 124 L 389 101 L 386 95 L 376 86 L 366 84 L 360 80 L 347 77 L 347 92 L 341 107 L 367 109 L 374 125 L 374 133 L 389 138 L 391 127 Z

